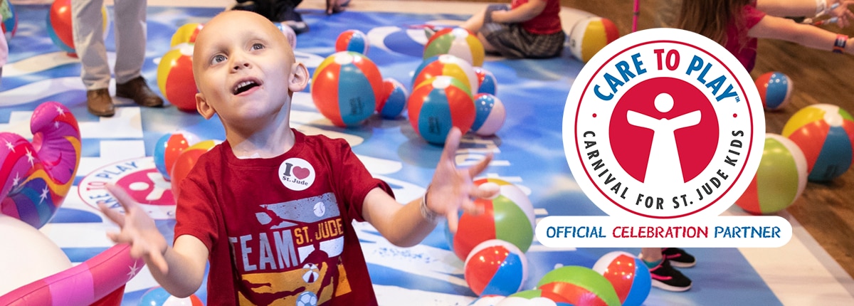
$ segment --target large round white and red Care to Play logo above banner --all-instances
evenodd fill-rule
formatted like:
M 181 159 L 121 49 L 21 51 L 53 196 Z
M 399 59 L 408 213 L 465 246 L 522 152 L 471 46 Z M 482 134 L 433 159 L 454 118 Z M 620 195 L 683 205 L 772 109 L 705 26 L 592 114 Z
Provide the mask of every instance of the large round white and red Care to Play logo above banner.
M 765 120 L 750 74 L 711 39 L 656 28 L 608 44 L 564 109 L 564 150 L 608 215 L 720 215 L 750 184 Z

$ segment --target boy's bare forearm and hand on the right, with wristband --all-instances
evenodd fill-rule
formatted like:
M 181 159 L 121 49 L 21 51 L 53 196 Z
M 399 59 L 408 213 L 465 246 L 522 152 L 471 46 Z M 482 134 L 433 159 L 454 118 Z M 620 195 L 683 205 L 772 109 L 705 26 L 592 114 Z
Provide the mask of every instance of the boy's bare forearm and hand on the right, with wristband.
M 436 227 L 438 217 L 446 217 L 451 231 L 456 232 L 459 209 L 479 214 L 483 207 L 477 207 L 473 199 L 492 197 L 498 192 L 488 187 L 478 188 L 473 183 L 477 174 L 489 165 L 491 155 L 470 168 L 456 167 L 453 160 L 461 137 L 456 127 L 448 133 L 445 149 L 424 197 L 401 205 L 379 188 L 368 192 L 362 216 L 392 244 L 409 247 L 420 243 Z

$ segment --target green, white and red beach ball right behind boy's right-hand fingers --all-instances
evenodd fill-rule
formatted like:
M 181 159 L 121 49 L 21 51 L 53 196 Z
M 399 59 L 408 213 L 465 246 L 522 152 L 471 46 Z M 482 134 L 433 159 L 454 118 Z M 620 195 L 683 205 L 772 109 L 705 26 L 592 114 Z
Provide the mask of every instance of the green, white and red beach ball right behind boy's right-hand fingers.
M 502 179 L 475 179 L 476 186 L 498 185 L 498 195 L 491 199 L 478 198 L 483 214 L 461 212 L 457 232 L 445 225 L 445 238 L 453 253 L 465 261 L 477 244 L 490 239 L 509 242 L 523 252 L 534 241 L 534 205 L 517 185 Z

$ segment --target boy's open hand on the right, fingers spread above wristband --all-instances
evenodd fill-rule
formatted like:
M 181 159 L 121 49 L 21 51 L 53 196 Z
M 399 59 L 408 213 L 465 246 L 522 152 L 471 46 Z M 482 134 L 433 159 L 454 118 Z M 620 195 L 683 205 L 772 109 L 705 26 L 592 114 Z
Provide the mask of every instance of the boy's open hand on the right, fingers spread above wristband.
M 473 182 L 477 174 L 483 172 L 489 162 L 492 161 L 492 154 L 470 168 L 457 168 L 454 155 L 459 148 L 459 138 L 461 137 L 462 132 L 459 132 L 457 127 L 453 127 L 451 132 L 447 133 L 445 149 L 442 150 L 442 157 L 439 159 L 439 164 L 436 165 L 433 181 L 427 187 L 427 194 L 425 195 L 427 197 L 427 208 L 437 215 L 445 216 L 451 232 L 457 232 L 459 209 L 470 214 L 480 214 L 483 212 L 483 207 L 475 205 L 474 199 L 476 197 L 494 197 L 498 193 L 498 190 L 495 189 L 478 188 Z

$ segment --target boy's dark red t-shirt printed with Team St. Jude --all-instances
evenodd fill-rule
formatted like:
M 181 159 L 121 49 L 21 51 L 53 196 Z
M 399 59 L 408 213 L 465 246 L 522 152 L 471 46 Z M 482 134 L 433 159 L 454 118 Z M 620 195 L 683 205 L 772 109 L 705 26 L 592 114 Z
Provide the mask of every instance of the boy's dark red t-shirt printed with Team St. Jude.
M 208 246 L 208 305 L 377 304 L 352 221 L 368 191 L 394 195 L 344 140 L 294 134 L 273 158 L 219 144 L 181 182 L 175 238 Z

